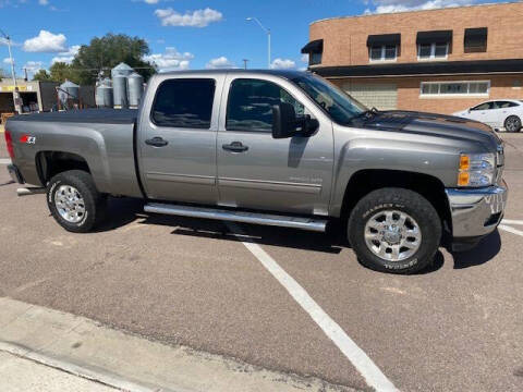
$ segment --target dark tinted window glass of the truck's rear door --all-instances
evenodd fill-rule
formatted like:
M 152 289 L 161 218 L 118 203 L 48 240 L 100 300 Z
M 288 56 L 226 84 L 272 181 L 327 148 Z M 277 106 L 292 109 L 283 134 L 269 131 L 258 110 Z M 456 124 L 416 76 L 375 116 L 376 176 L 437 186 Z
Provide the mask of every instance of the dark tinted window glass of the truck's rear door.
M 158 126 L 210 128 L 215 79 L 178 78 L 160 84 L 151 120 Z

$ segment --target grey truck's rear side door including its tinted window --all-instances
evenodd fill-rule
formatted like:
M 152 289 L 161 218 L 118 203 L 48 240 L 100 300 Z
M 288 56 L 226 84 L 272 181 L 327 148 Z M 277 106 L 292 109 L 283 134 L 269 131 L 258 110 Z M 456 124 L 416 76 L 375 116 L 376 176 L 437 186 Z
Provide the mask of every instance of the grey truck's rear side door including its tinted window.
M 149 198 L 216 204 L 216 131 L 223 75 L 158 78 L 141 115 L 138 151 Z M 156 87 L 156 88 L 155 88 Z M 146 110 L 146 109 L 145 109 Z

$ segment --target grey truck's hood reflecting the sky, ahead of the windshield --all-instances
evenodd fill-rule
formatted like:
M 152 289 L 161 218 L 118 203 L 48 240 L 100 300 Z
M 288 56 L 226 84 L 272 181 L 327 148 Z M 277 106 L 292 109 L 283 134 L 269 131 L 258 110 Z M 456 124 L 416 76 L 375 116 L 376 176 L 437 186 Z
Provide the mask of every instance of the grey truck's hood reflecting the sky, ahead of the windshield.
M 488 150 L 494 151 L 497 145 L 501 143 L 499 136 L 488 125 L 443 114 L 397 110 L 381 111 L 366 118 L 361 126 L 477 142 L 487 147 Z

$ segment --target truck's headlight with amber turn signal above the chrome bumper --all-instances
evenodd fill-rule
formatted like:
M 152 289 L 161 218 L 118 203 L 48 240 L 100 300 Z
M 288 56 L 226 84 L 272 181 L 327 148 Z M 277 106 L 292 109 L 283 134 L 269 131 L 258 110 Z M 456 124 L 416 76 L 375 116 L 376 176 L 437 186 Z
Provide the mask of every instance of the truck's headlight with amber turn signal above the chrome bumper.
M 492 185 L 496 174 L 496 156 L 494 154 L 462 154 L 458 186 Z

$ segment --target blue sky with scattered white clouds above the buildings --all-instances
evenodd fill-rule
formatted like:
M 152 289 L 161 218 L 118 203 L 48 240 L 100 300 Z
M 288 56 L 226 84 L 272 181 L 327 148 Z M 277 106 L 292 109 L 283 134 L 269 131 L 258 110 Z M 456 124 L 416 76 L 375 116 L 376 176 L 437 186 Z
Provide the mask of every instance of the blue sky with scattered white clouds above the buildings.
M 81 45 L 107 33 L 147 40 L 146 60 L 161 70 L 268 66 L 303 69 L 300 53 L 317 20 L 500 2 L 497 0 L 0 0 L 0 29 L 11 36 L 17 76 L 70 62 Z M 9 70 L 0 36 L 0 68 Z

